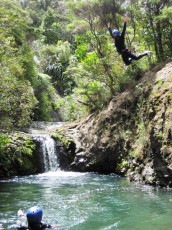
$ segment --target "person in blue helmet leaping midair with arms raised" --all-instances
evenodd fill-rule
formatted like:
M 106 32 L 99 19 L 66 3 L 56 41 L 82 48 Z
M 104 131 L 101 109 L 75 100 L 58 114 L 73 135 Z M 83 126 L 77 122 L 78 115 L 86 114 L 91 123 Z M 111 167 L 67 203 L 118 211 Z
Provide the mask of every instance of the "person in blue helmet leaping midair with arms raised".
M 144 53 L 140 55 L 133 54 L 125 45 L 125 32 L 126 32 L 126 24 L 129 20 L 128 17 L 124 18 L 124 26 L 122 33 L 120 33 L 119 30 L 114 29 L 112 30 L 110 27 L 110 24 L 108 23 L 108 30 L 112 38 L 114 39 L 115 47 L 117 52 L 122 56 L 122 59 L 125 63 L 125 65 L 130 65 L 132 63 L 132 60 L 139 60 L 142 57 L 151 54 L 151 51 L 145 51 Z

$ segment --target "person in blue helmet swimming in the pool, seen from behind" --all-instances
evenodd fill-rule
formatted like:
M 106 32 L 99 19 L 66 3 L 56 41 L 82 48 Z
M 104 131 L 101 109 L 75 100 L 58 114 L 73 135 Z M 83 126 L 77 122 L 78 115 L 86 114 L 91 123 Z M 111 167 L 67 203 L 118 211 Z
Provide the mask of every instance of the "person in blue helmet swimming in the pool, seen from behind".
M 26 229 L 40 230 L 40 229 L 52 228 L 50 224 L 42 222 L 42 215 L 43 215 L 42 209 L 37 206 L 28 209 L 26 212 L 28 226 L 24 226 L 21 224 L 19 227 L 17 227 L 17 229 L 18 230 L 26 230 Z M 24 216 L 24 213 L 22 212 L 21 209 L 19 209 L 18 211 L 18 216 L 19 217 Z

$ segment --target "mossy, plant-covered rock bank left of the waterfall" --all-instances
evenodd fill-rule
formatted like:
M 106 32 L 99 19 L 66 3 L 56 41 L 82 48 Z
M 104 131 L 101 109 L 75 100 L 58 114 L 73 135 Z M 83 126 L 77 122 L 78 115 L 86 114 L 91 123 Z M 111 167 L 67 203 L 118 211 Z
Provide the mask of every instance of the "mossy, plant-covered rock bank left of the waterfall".
M 0 178 L 33 173 L 34 144 L 21 134 L 0 135 Z

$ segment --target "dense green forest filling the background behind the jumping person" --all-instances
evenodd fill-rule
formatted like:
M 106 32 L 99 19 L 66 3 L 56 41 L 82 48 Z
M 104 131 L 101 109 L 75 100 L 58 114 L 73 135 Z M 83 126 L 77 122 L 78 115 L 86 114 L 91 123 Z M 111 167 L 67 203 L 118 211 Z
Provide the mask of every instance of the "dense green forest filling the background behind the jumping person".
M 132 51 L 153 51 L 127 69 L 108 23 Z M 2 0 L 0 128 L 79 119 L 100 110 L 136 75 L 172 55 L 171 0 Z M 57 114 L 57 113 L 56 113 Z

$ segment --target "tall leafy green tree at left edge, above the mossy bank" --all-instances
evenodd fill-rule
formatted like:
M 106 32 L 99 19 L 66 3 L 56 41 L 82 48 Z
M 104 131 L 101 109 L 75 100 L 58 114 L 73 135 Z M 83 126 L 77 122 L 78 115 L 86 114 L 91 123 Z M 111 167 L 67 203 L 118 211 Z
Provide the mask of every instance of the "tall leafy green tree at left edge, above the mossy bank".
M 0 126 L 24 126 L 37 101 L 31 87 L 30 49 L 25 14 L 11 2 L 0 3 Z M 26 90 L 27 89 L 27 90 Z

